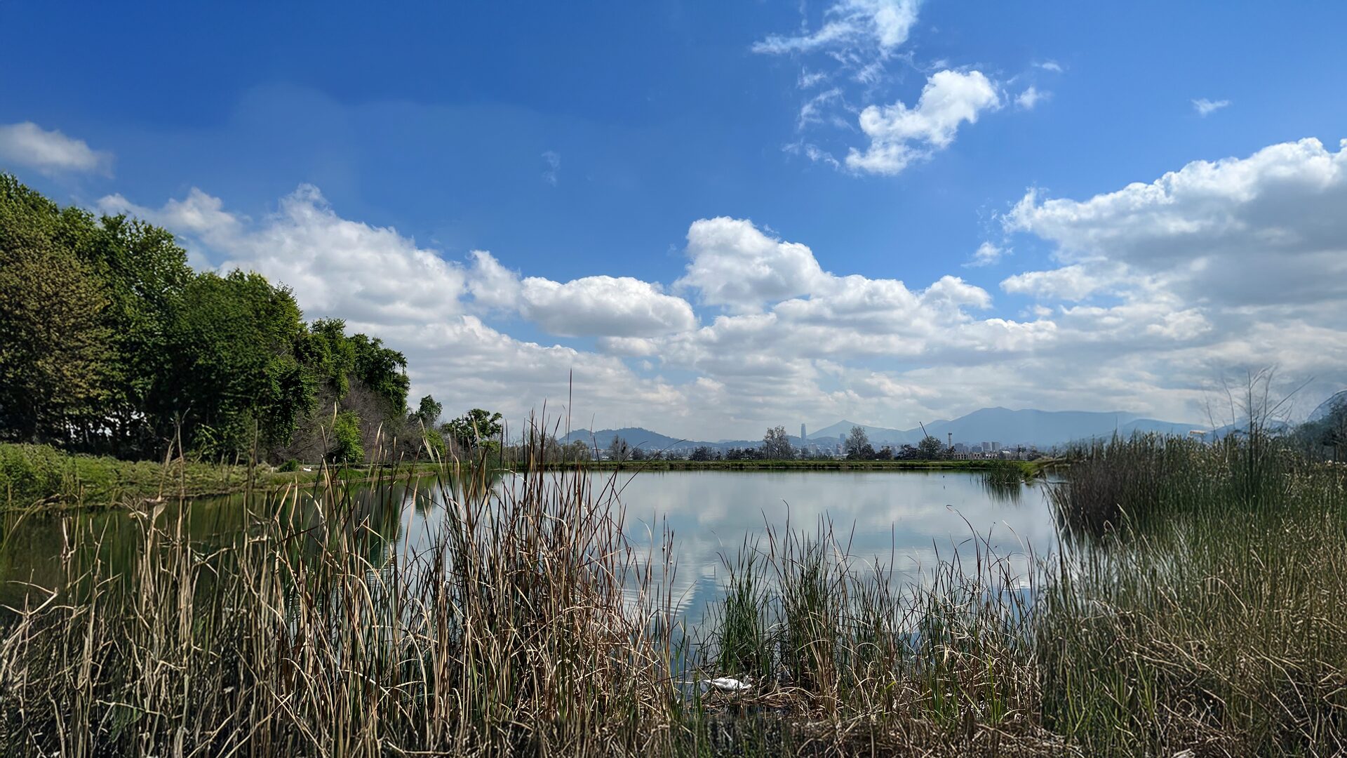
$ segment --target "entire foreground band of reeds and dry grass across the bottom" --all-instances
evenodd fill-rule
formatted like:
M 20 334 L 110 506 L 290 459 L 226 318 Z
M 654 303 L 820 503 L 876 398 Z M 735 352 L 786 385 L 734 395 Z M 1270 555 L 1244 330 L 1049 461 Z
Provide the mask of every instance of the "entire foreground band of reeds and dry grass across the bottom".
M 1250 468 L 1171 455 L 1082 457 L 1064 513 L 1106 510 L 1086 496 L 1099 482 L 1129 507 L 1189 510 L 1028 576 L 986 538 L 907 581 L 826 522 L 769 530 L 726 557 L 698 629 L 676 618 L 672 537 L 624 537 L 621 473 L 527 468 L 492 487 L 443 461 L 432 486 L 373 496 L 325 477 L 248 500 L 226 541 L 195 537 L 190 504 L 139 513 L 117 561 L 106 521 L 65 515 L 59 581 L 0 615 L 0 753 L 1343 750 L 1343 472 L 1288 464 L 1250 486 Z M 1129 483 L 1110 461 L 1152 473 Z M 416 554 L 407 498 L 443 519 Z M 713 676 L 752 688 L 690 687 Z

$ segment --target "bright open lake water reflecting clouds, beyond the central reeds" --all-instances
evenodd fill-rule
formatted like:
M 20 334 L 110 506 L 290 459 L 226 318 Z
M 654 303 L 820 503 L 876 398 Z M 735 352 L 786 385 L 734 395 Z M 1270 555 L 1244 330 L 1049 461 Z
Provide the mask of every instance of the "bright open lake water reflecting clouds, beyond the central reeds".
M 768 527 L 815 535 L 831 526 L 854 561 L 889 564 L 900 579 L 920 581 L 923 569 L 974 544 L 990 545 L 1028 576 L 1030 554 L 1056 549 L 1057 534 L 1044 488 L 989 488 L 979 473 L 894 471 L 647 471 L 594 473 L 595 490 L 613 486 L 626 511 L 626 534 L 638 546 L 659 545 L 672 531 L 674 596 L 696 620 L 721 592 L 723 558 L 741 549 L 766 550 Z M 403 514 L 404 556 L 428 544 L 439 514 Z M 656 553 L 657 556 L 657 553 Z

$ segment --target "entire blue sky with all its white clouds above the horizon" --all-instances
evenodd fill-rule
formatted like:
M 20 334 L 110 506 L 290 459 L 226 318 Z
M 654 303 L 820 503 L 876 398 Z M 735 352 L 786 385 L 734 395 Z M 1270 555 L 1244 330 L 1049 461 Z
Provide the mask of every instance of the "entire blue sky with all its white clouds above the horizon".
M 1308 406 L 1347 380 L 1344 22 L 8 3 L 0 169 L 384 334 L 450 411 L 564 403 L 574 370 L 583 425 L 684 436 L 1196 421 L 1246 366 Z

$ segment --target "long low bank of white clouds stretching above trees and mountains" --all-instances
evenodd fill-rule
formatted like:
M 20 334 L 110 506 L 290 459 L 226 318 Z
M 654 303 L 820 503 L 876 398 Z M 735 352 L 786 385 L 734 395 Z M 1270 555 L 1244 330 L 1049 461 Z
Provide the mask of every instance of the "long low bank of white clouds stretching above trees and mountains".
M 691 223 L 667 291 L 602 272 L 529 276 L 485 251 L 449 262 L 338 216 L 314 187 L 256 220 L 199 190 L 160 208 L 120 196 L 102 206 L 292 286 L 310 317 L 384 337 L 407 352 L 415 392 L 512 418 L 544 401 L 556 409 L 572 372 L 566 410 L 582 425 L 690 438 L 757 437 L 801 417 L 908 428 L 986 405 L 1196 419 L 1211 379 L 1233 366 L 1347 382 L 1343 144 L 1273 144 L 1102 190 L 1026 193 L 1002 217 L 1005 237 L 971 263 L 1044 247 L 1053 263 L 1005 271 L 994 293 L 977 268 L 905 282 L 902 259 L 882 274 L 832 274 L 808 244 L 731 217 Z M 699 318 L 688 301 L 709 312 Z M 490 322 L 502 314 L 594 348 L 517 339 Z

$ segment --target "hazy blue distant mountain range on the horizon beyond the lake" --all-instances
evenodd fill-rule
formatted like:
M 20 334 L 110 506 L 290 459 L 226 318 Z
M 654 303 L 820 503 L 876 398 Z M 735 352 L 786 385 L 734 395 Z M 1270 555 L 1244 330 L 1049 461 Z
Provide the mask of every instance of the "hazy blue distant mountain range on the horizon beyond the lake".
M 866 436 L 870 438 L 870 444 L 876 448 L 882 445 L 916 445 L 921 440 L 920 426 L 916 429 L 886 429 L 884 426 L 839 421 L 831 426 L 810 432 L 808 441 L 815 444 L 836 442 L 841 437 L 851 432 L 853 426 L 863 428 Z M 1189 429 L 1193 429 L 1193 425 L 1142 418 L 1131 413 L 1010 410 L 1004 407 L 985 407 L 952 421 L 940 419 L 925 425 L 927 433 L 939 437 L 940 441 L 946 441 L 950 438 L 948 436 L 952 436 L 955 442 L 967 445 L 997 442 L 1001 446 L 1024 444 L 1037 448 L 1052 448 L 1091 437 L 1110 437 L 1114 433 L 1123 436 L 1134 432 L 1187 434 Z M 581 429 L 567 434 L 564 441 L 583 440 L 587 445 L 606 448 L 614 436 L 622 437 L 630 445 L 643 446 L 649 450 L 695 448 L 699 445 L 726 449 L 753 446 L 762 442 L 761 438 L 719 440 L 715 442 L 680 440 L 640 428 L 601 429 L 598 432 Z M 800 438 L 792 436 L 791 444 L 800 445 Z

